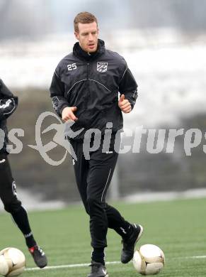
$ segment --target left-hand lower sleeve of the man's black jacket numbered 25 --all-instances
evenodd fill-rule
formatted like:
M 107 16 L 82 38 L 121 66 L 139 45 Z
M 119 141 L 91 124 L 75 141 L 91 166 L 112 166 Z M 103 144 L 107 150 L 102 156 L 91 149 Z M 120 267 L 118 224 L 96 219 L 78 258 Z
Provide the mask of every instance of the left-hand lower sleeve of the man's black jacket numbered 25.
M 57 70 L 52 77 L 52 83 L 50 85 L 50 97 L 52 97 L 52 104 L 55 112 L 62 117 L 62 111 L 65 107 L 69 107 L 67 99 L 64 97 L 64 83 L 61 81 Z

